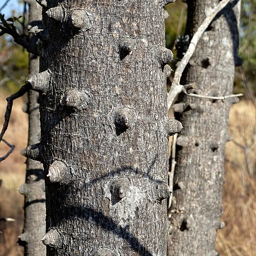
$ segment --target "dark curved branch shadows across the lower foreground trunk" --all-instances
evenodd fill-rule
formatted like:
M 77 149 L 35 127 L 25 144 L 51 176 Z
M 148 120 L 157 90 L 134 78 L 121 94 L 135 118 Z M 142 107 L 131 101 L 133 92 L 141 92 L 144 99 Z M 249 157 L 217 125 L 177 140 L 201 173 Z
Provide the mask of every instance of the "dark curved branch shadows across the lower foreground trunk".
M 110 180 L 112 177 L 123 177 L 129 176 L 129 174 L 135 174 L 135 177 L 138 178 L 145 178 L 149 182 L 153 182 L 155 185 L 162 184 L 163 181 L 154 179 L 149 172 L 153 169 L 155 163 L 157 162 L 157 154 L 153 158 L 153 161 L 150 163 L 148 169 L 146 172 L 142 172 L 133 166 L 123 166 L 121 168 L 118 168 L 116 170 L 113 170 L 113 172 L 101 175 L 97 179 L 93 179 L 92 181 L 88 183 L 83 183 L 83 187 L 76 188 L 78 190 L 81 189 L 91 189 L 92 186 L 102 186 L 102 180 Z M 97 184 L 98 183 L 98 184 Z M 48 186 L 52 186 L 49 184 Z M 131 249 L 134 252 L 137 252 L 138 255 L 141 256 L 153 256 L 152 253 L 143 245 L 140 243 L 139 239 L 135 236 L 135 234 L 132 234 L 129 231 L 130 226 L 121 226 L 118 223 L 116 223 L 112 217 L 108 217 L 107 215 L 103 214 L 101 211 L 97 211 L 95 209 L 92 209 L 91 207 L 88 207 L 87 205 L 82 205 L 83 201 L 81 201 L 81 205 L 65 205 L 65 203 L 62 202 L 63 193 L 64 191 L 72 189 L 74 190 L 73 186 L 70 185 L 56 185 L 51 188 L 53 193 L 57 198 L 59 198 L 59 202 L 56 203 L 56 205 L 52 205 L 49 207 L 49 212 L 58 212 L 58 219 L 53 219 L 46 225 L 47 227 L 58 227 L 60 226 L 58 222 L 63 222 L 67 219 L 76 219 L 81 220 L 82 222 L 93 222 L 94 225 L 98 226 L 100 229 L 107 231 L 108 233 L 112 233 L 117 237 L 120 237 L 124 239 L 124 241 L 130 245 Z M 74 191 L 73 191 L 74 193 Z M 162 203 L 162 199 L 159 201 Z M 70 202 L 72 204 L 72 202 Z M 74 202 L 73 202 L 74 203 Z M 79 204 L 79 203 L 78 203 Z M 53 207 L 57 207 L 57 205 L 61 206 L 58 209 L 53 209 Z M 46 206 L 47 207 L 47 206 Z M 54 220 L 55 219 L 55 220 Z

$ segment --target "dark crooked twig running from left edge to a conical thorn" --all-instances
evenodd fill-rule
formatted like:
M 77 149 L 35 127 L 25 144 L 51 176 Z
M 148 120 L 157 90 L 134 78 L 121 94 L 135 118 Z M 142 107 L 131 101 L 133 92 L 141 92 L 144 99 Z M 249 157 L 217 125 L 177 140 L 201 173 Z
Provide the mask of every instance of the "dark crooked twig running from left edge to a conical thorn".
M 12 94 L 10 97 L 8 97 L 7 100 L 7 106 L 6 106 L 6 111 L 5 111 L 5 115 L 4 115 L 4 124 L 3 124 L 3 129 L 0 133 L 0 142 L 3 139 L 3 135 L 5 133 L 5 131 L 7 130 L 8 124 L 9 124 L 9 120 L 10 120 L 10 116 L 11 116 L 11 112 L 12 112 L 12 105 L 13 105 L 13 100 L 20 98 L 21 96 L 23 96 L 28 90 L 31 89 L 31 84 L 30 83 L 26 83 L 25 85 L 23 85 L 20 90 L 14 94 Z

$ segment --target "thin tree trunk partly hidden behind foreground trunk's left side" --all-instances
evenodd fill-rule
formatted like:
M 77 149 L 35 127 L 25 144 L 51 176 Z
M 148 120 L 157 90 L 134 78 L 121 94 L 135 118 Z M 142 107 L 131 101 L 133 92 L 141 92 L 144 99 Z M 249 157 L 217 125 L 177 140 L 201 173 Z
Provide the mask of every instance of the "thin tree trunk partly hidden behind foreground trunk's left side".
M 35 1 L 29 6 L 29 23 L 42 20 L 42 7 Z M 31 36 L 30 42 L 36 43 L 36 37 Z M 29 74 L 39 71 L 39 58 L 30 54 Z M 38 92 L 28 93 L 27 113 L 29 114 L 28 145 L 41 140 Z M 19 188 L 25 195 L 25 216 L 23 233 L 19 236 L 19 244 L 25 247 L 25 255 L 45 256 L 46 247 L 41 239 L 45 234 L 45 186 L 43 165 L 33 159 L 27 159 L 26 183 Z

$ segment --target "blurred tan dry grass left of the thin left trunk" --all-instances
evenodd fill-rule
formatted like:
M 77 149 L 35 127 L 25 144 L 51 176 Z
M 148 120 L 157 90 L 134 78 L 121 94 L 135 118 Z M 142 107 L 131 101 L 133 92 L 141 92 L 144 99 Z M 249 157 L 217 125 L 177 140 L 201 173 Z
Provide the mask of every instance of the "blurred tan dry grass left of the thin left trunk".
M 4 95 L 0 96 L 1 129 L 6 107 Z M 0 188 L 0 218 L 14 218 L 15 222 L 0 222 L 0 255 L 23 255 L 22 247 L 18 245 L 18 236 L 22 231 L 23 223 L 23 196 L 17 188 L 25 180 L 26 158 L 20 155 L 20 150 L 27 145 L 27 114 L 21 111 L 23 101 L 14 102 L 9 128 L 4 138 L 15 145 L 13 153 L 0 163 L 0 179 L 3 181 Z M 0 144 L 0 156 L 6 153 L 6 147 Z

